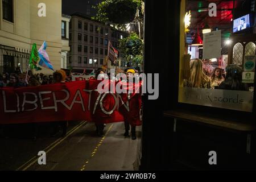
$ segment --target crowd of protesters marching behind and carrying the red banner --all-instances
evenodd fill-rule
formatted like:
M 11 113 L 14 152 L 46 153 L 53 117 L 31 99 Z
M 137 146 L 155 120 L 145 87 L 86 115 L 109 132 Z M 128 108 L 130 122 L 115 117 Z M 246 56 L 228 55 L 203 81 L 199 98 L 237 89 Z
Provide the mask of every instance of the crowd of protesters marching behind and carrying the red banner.
M 130 73 L 135 73 L 135 69 L 133 68 L 127 68 L 123 73 L 126 73 L 129 75 Z M 104 78 L 104 73 L 102 69 L 98 69 L 96 71 L 96 79 L 98 76 L 102 75 L 102 78 Z M 108 74 L 108 77 L 110 78 L 110 74 Z M 111 78 L 110 78 L 111 79 Z M 44 75 L 43 73 L 32 75 L 31 71 L 28 71 L 28 73 L 21 73 L 21 72 L 15 72 L 11 73 L 4 73 L 3 75 L 0 75 L 0 88 L 1 87 L 13 87 L 13 88 L 22 88 L 26 86 L 40 86 L 40 85 L 48 85 L 48 84 L 55 84 L 55 83 L 60 83 L 60 82 L 69 82 L 71 81 L 71 76 L 67 76 L 67 73 L 64 70 L 59 70 L 53 73 L 53 75 Z M 38 129 L 39 129 L 39 124 L 38 123 L 32 123 L 32 138 L 36 140 L 38 136 Z M 57 121 L 51 123 L 51 136 L 56 137 L 57 135 L 61 134 L 62 137 L 65 137 L 67 134 L 67 126 L 68 122 L 67 121 Z M 96 133 L 102 137 L 103 130 L 104 130 L 105 125 L 96 125 Z M 6 126 L 5 129 L 8 129 L 9 126 Z M 136 139 L 135 135 L 135 126 L 131 125 L 131 134 L 132 134 L 132 139 Z M 129 130 L 130 126 L 127 121 L 125 121 L 125 137 L 129 137 Z M 1 132 L 0 132 L 1 134 Z M 5 135 L 5 134 L 2 134 Z

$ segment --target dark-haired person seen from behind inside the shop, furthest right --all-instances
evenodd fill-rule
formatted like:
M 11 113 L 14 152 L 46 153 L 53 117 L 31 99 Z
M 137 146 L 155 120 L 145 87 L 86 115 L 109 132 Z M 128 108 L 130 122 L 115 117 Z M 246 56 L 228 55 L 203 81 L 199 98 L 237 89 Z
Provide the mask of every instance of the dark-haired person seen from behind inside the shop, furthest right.
M 242 82 L 242 73 L 243 70 L 240 66 L 236 64 L 228 65 L 225 81 L 221 82 L 218 89 L 248 91 L 247 85 Z

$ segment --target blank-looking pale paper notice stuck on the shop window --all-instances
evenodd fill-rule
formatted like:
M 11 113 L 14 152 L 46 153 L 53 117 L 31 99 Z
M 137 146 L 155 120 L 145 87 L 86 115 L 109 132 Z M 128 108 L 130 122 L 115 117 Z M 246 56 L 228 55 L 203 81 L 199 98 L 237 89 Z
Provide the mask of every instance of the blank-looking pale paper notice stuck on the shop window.
M 204 34 L 203 59 L 221 57 L 221 30 Z

